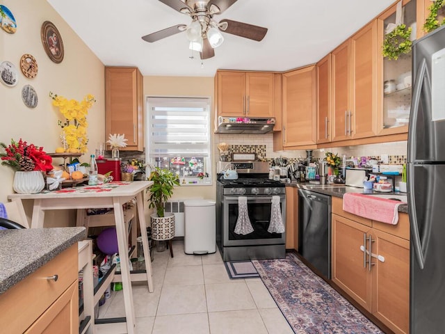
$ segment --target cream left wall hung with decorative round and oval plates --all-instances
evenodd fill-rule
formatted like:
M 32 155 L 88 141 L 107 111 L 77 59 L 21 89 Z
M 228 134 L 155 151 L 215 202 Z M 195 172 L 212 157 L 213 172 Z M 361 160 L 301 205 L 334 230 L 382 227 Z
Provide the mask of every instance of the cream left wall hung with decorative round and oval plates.
M 17 22 L 17 32 L 6 33 L 0 29 L 0 62 L 10 61 L 19 71 L 19 81 L 14 87 L 0 84 L 0 141 L 10 143 L 11 138 L 43 146 L 45 152 L 54 152 L 60 146 L 60 113 L 52 106 L 49 92 L 67 98 L 82 100 L 90 93 L 97 102 L 88 113 L 88 151 L 94 152 L 95 145 L 104 141 L 104 65 L 92 54 L 83 41 L 70 29 L 65 21 L 47 1 L 4 0 Z M 51 21 L 58 29 L 65 48 L 65 56 L 59 64 L 52 62 L 45 53 L 40 38 L 44 21 Z M 38 74 L 27 79 L 19 70 L 19 59 L 23 54 L 32 54 L 38 63 Z M 29 109 L 22 102 L 21 91 L 26 84 L 33 86 L 38 94 L 38 106 Z M 88 154 L 81 161 L 88 161 Z M 60 164 L 60 158 L 54 164 Z M 0 166 L 0 202 L 6 202 L 13 193 L 13 170 Z M 47 215 L 48 220 L 60 216 Z M 66 218 L 66 217 L 65 217 Z M 60 219 L 65 219 L 60 218 Z

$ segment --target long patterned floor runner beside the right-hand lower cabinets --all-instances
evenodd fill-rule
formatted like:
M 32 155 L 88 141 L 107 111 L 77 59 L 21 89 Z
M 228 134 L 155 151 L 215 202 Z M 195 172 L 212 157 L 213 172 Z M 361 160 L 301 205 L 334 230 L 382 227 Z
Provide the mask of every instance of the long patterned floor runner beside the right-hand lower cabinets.
M 383 333 L 295 254 L 252 264 L 295 333 Z

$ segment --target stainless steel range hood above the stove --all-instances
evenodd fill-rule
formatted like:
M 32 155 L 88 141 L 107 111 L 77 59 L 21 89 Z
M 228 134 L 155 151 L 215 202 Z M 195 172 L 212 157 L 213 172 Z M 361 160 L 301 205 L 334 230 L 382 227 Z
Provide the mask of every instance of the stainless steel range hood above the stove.
M 273 130 L 275 118 L 218 117 L 216 134 L 267 134 Z

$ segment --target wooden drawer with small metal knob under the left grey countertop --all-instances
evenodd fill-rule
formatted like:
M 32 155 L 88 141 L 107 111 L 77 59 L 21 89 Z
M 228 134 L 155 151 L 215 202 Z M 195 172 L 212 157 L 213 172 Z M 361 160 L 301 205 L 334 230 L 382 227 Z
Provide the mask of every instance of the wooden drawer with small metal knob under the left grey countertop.
M 77 280 L 77 244 L 0 296 L 3 333 L 23 333 L 49 306 Z M 58 275 L 58 280 L 47 277 Z

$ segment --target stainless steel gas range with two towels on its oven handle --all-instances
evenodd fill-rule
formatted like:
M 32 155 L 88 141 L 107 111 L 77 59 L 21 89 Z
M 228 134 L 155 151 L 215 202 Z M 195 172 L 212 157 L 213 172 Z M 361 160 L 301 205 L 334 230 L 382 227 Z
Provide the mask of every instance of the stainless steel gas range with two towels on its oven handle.
M 237 180 L 225 180 L 223 174 L 218 174 L 216 241 L 223 260 L 284 258 L 284 183 L 268 179 L 267 162 L 245 161 L 230 164 L 232 166 L 228 166 L 227 162 L 218 165 L 219 173 L 227 168 L 235 168 L 238 173 Z M 283 232 L 280 228 L 274 228 L 277 226 L 277 216 L 280 216 L 278 220 Z M 247 230 L 240 230 L 240 226 L 246 227 L 243 223 L 248 224 Z

